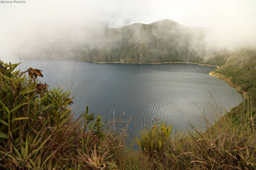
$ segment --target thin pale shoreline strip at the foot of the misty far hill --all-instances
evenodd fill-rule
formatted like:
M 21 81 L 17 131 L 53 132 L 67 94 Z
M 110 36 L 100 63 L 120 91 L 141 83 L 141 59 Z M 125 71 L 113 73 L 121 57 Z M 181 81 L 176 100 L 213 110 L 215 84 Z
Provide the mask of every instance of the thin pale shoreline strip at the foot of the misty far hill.
M 74 61 L 84 61 L 84 60 L 74 60 Z M 119 61 L 114 61 L 114 62 L 97 62 L 97 61 L 84 61 L 84 62 L 89 62 L 89 63 L 99 63 L 99 64 L 197 64 L 199 66 L 211 66 L 211 67 L 216 67 L 219 68 L 219 66 L 216 65 L 210 65 L 210 64 L 199 64 L 199 63 L 194 63 L 194 62 L 160 62 L 160 63 L 127 63 L 127 62 L 119 62 Z

